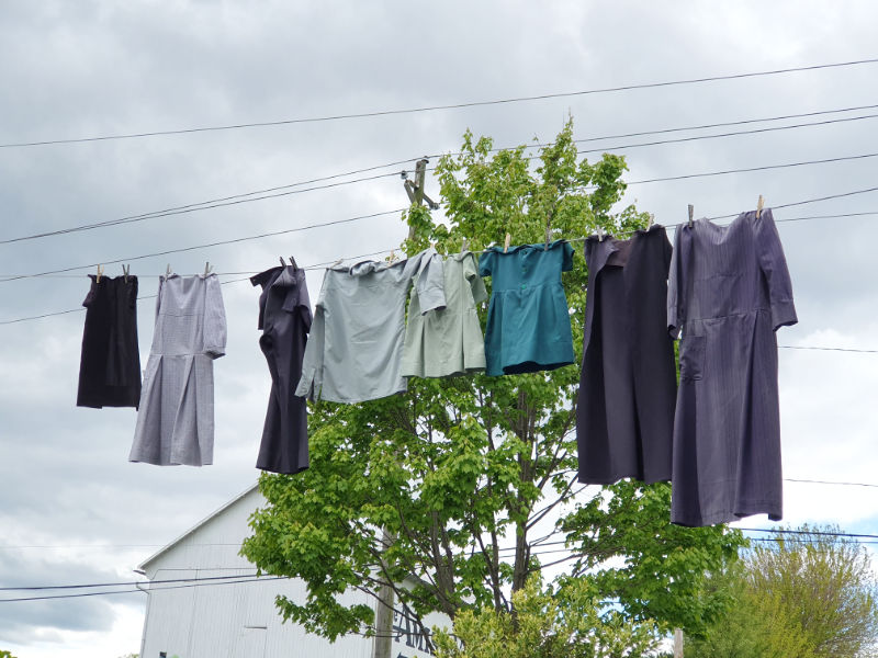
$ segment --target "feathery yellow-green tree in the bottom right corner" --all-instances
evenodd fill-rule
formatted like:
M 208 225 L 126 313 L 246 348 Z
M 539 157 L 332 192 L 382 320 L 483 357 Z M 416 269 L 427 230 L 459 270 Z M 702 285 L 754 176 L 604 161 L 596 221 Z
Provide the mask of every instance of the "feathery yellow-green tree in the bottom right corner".
M 866 548 L 833 534 L 834 526 L 798 530 L 803 534 L 777 533 L 713 579 L 734 604 L 687 643 L 687 657 L 877 655 L 878 602 Z

